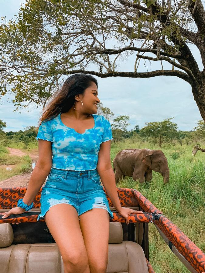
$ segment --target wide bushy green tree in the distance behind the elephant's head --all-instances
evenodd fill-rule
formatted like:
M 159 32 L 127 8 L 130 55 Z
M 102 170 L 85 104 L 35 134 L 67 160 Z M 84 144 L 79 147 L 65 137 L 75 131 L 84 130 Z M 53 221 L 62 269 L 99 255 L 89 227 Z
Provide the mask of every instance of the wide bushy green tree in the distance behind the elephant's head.
M 168 142 L 177 135 L 177 125 L 171 122 L 173 118 L 165 119 L 163 121 L 145 122 L 147 126 L 140 130 L 141 136 L 151 136 L 157 142 L 159 147 L 163 143 Z

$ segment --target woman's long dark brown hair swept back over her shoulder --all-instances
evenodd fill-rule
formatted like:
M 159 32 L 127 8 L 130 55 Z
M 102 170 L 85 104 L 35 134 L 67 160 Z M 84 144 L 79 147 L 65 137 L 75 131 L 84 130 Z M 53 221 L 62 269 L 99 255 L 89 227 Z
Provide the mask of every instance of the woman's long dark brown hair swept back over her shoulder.
M 39 126 L 44 120 L 51 120 L 59 113 L 66 113 L 73 106 L 75 96 L 83 94 L 85 89 L 91 86 L 92 82 L 98 86 L 97 79 L 89 74 L 77 73 L 68 77 L 57 96 L 46 106 L 39 120 Z

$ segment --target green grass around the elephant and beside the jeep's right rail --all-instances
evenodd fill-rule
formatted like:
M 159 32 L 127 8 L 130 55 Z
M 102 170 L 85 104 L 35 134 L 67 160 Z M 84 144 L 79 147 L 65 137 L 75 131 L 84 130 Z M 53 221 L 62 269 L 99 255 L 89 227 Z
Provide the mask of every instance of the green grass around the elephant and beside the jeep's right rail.
M 116 153 L 123 149 L 160 149 L 165 154 L 170 177 L 167 185 L 159 173 L 152 172 L 151 182 L 140 184 L 125 177 L 117 187 L 139 190 L 155 207 L 163 211 L 183 233 L 205 252 L 205 154 L 198 151 L 192 157 L 193 146 L 155 147 L 150 143 L 112 144 L 112 160 Z M 150 263 L 156 273 L 189 273 L 190 271 L 179 261 L 161 238 L 153 224 L 149 224 L 149 256 Z

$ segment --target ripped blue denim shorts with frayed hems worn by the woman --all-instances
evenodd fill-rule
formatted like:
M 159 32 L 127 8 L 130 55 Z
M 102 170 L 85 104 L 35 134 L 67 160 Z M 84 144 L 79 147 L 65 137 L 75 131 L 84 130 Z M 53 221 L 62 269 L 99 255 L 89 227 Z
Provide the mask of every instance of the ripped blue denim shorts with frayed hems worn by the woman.
M 113 218 L 97 169 L 75 171 L 52 167 L 42 187 L 40 203 L 37 221 L 44 218 L 50 207 L 56 204 L 72 205 L 78 216 L 93 208 L 102 208 Z

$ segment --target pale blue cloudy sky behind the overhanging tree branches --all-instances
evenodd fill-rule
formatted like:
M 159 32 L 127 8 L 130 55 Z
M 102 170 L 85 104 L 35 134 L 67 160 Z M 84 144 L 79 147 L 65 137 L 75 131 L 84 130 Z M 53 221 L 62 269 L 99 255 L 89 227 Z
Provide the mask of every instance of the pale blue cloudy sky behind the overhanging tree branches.
M 0 0 L 0 18 L 15 19 L 23 0 Z M 192 45 L 190 47 L 195 57 L 200 71 L 203 69 L 199 50 Z M 128 61 L 119 62 L 118 71 L 133 71 L 135 56 Z M 143 69 L 143 60 L 142 60 Z M 147 62 L 150 71 L 149 62 Z M 151 70 L 158 69 L 159 66 L 152 63 Z M 170 69 L 171 65 L 164 66 Z M 90 70 L 90 69 L 89 69 Z M 142 70 L 141 70 L 142 71 Z M 146 70 L 144 71 L 146 72 Z M 196 122 L 201 120 L 199 109 L 194 101 L 191 86 L 183 79 L 175 76 L 158 76 L 152 78 L 126 78 L 109 77 L 101 79 L 94 76 L 98 81 L 99 99 L 104 107 L 108 107 L 114 118 L 120 115 L 130 117 L 131 123 L 127 130 L 145 126 L 145 122 L 162 121 L 172 118 L 172 122 L 178 125 L 178 130 L 190 131 L 197 126 Z M 37 126 L 42 114 L 42 107 L 36 108 L 35 104 L 28 109 L 15 111 L 15 106 L 11 102 L 12 95 L 5 95 L 0 105 L 0 120 L 3 120 L 7 128 L 5 132 L 25 130 L 27 126 Z M 112 123 L 112 120 L 111 120 Z

